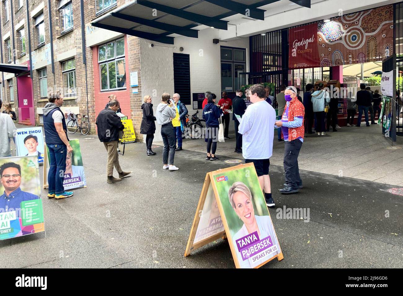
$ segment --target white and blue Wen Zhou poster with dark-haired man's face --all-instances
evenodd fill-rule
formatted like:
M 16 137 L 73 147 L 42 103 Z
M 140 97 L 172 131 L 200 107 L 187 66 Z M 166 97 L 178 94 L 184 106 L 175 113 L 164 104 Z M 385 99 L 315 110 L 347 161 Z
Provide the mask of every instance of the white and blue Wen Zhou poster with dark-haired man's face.
M 36 156 L 39 163 L 44 162 L 44 134 L 41 126 L 18 128 L 15 145 L 17 156 Z

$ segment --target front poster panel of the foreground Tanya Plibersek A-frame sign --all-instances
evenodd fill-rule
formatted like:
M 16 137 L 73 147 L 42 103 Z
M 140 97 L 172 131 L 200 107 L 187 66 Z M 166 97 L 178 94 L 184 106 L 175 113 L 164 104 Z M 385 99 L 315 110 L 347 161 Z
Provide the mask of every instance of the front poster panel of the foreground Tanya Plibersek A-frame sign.
M 212 179 L 222 209 L 221 217 L 229 229 L 229 233 L 226 229 L 226 236 L 237 261 L 235 265 L 254 268 L 277 256 L 283 259 L 253 164 L 212 172 Z

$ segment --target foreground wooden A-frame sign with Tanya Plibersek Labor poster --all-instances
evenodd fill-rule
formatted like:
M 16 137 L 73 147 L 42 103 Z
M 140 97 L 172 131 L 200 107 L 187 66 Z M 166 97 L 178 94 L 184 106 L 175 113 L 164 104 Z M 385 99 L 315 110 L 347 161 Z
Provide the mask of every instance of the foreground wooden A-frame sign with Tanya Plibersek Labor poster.
M 185 257 L 223 236 L 237 268 L 284 258 L 253 164 L 206 174 Z

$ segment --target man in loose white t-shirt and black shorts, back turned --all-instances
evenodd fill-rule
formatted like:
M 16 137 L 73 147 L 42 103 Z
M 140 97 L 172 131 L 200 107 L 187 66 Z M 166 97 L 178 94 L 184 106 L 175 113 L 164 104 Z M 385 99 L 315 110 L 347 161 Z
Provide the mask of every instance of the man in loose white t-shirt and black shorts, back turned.
M 274 123 L 276 111 L 265 101 L 263 85 L 249 88 L 251 105 L 246 109 L 239 125 L 242 135 L 242 156 L 245 163 L 253 162 L 260 186 L 264 190 L 266 205 L 274 207 L 270 189 L 269 166 L 273 154 Z

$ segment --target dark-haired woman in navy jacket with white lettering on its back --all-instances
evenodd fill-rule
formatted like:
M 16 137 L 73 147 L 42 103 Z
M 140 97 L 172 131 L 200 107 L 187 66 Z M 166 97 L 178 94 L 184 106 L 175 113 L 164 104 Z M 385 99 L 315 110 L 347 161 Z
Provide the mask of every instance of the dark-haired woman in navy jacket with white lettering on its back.
M 207 104 L 203 109 L 203 119 L 206 120 L 207 134 L 207 157 L 206 160 L 217 160 L 216 149 L 218 141 L 218 119 L 221 117 L 223 106 L 217 107 L 216 95 L 214 93 L 208 96 Z M 210 153 L 211 152 L 211 153 Z

